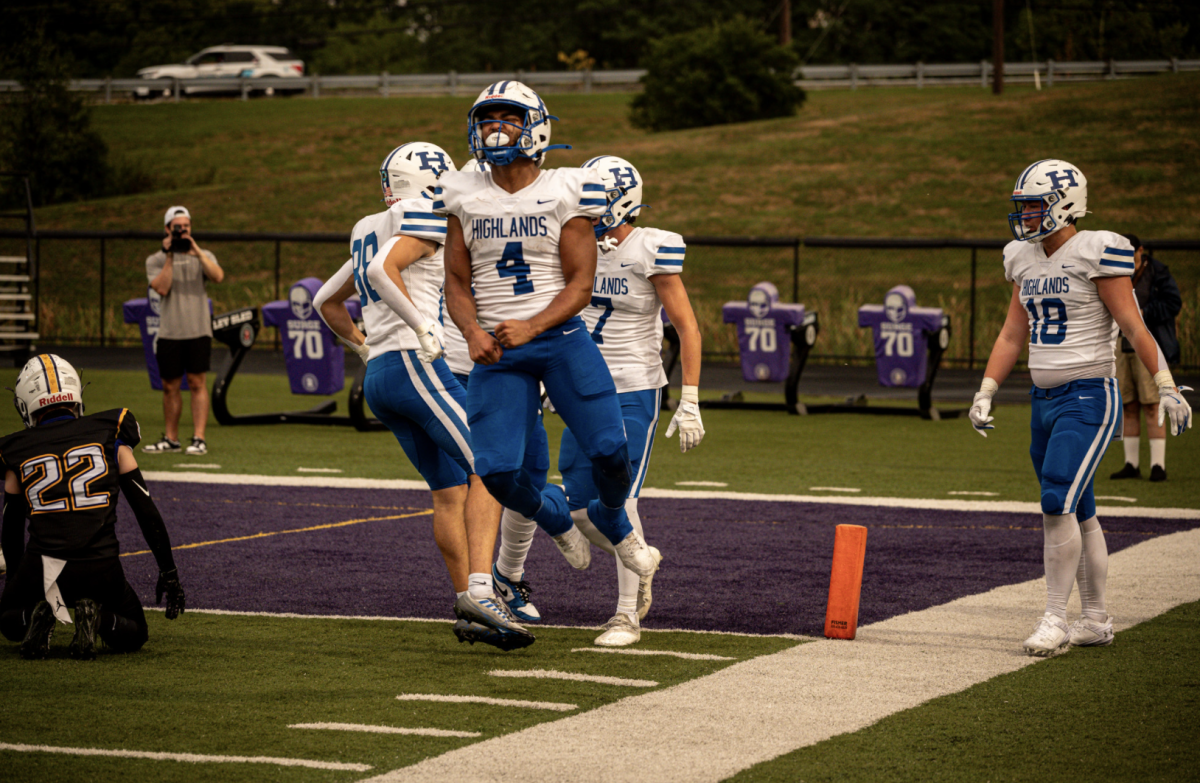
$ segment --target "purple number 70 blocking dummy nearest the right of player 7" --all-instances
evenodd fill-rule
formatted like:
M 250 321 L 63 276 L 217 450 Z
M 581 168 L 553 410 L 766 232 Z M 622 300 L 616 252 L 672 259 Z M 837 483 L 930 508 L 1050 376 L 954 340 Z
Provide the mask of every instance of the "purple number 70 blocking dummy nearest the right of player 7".
M 792 358 L 791 327 L 804 323 L 804 305 L 779 303 L 769 282 L 750 289 L 745 301 L 727 301 L 725 323 L 738 325 L 742 377 L 746 381 L 784 381 Z

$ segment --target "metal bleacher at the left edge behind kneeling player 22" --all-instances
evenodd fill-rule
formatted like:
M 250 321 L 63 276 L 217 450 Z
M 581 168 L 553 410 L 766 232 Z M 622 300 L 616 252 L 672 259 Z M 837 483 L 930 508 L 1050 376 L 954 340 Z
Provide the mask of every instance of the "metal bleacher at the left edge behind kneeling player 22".
M 0 255 L 0 358 L 22 366 L 28 359 L 37 334 L 37 258 L 34 253 L 34 199 L 29 179 L 11 172 L 0 178 L 14 180 L 13 191 L 24 195 L 25 209 L 0 213 L 0 220 L 25 222 L 25 252 L 19 256 Z

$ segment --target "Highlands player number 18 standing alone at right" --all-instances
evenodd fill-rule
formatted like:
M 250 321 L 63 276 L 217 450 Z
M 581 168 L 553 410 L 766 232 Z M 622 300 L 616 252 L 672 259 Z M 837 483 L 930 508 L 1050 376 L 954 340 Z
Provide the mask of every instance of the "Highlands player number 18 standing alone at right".
M 1048 596 L 1024 648 L 1048 656 L 1068 644 L 1112 642 L 1104 597 L 1109 556 L 1092 479 L 1109 442 L 1121 437 L 1121 394 L 1112 377 L 1117 327 L 1154 375 L 1159 422 L 1169 418 L 1170 430 L 1182 435 L 1192 408 L 1141 321 L 1130 283 L 1134 249 L 1121 234 L 1075 227 L 1087 214 L 1082 172 L 1061 160 L 1038 161 L 1021 172 L 1012 201 L 1015 241 L 1004 247 L 1004 276 L 1013 282 L 1013 298 L 970 418 L 986 437 L 991 398 L 1028 342 L 1030 455 L 1042 484 Z M 1068 626 L 1067 598 L 1076 580 L 1082 616 Z

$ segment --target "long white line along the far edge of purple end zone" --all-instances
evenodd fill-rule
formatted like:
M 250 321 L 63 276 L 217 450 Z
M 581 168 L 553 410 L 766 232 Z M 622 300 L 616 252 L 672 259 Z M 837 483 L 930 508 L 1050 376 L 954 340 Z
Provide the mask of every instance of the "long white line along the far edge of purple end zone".
M 341 478 L 334 476 L 256 476 L 251 473 L 172 473 L 143 471 L 150 482 L 184 484 L 256 484 L 262 486 L 326 486 L 330 489 L 391 489 L 428 490 L 425 482 L 398 478 Z M 834 495 L 768 495 L 766 492 L 731 492 L 728 490 L 677 490 L 643 486 L 642 497 L 668 500 L 728 500 L 774 501 L 780 503 L 823 503 L 826 506 L 881 506 L 884 508 L 925 508 L 941 512 L 1000 512 L 1033 514 L 1042 519 L 1042 503 L 1018 501 L 956 501 L 940 497 L 838 497 Z M 1145 519 L 1200 519 L 1200 508 L 1128 508 L 1124 506 L 1097 507 L 1099 516 L 1140 516 Z M 644 630 L 644 628 L 643 628 Z

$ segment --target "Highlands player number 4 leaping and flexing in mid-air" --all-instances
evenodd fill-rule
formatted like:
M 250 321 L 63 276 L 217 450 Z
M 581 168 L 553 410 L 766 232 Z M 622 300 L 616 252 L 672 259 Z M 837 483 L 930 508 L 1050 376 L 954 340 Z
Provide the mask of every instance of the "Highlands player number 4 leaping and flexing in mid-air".
M 468 112 L 468 139 L 487 172 L 448 173 L 433 211 L 448 217 L 446 306 L 475 363 L 467 416 L 475 470 L 505 508 L 548 532 L 572 566 L 590 549 L 562 488 L 540 489 L 524 468 L 539 383 L 592 461 L 593 524 L 641 576 L 658 560 L 625 514 L 632 482 L 612 376 L 578 317 L 595 276 L 592 219 L 607 207 L 592 169 L 542 171 L 550 121 L 538 94 L 514 80 L 488 85 Z M 516 435 L 516 437 L 514 437 Z

